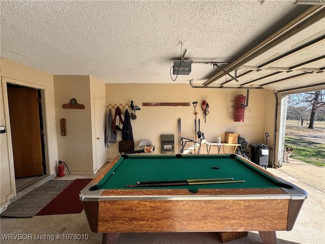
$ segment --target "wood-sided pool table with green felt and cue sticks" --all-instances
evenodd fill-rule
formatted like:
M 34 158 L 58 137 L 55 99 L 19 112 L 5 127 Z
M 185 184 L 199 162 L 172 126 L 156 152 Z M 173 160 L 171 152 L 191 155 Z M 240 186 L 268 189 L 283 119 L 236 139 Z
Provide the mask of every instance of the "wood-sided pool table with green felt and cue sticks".
M 235 154 L 122 155 L 80 192 L 90 229 L 103 233 L 103 243 L 116 243 L 120 232 L 246 231 L 276 243 L 275 231 L 293 228 L 306 198 Z

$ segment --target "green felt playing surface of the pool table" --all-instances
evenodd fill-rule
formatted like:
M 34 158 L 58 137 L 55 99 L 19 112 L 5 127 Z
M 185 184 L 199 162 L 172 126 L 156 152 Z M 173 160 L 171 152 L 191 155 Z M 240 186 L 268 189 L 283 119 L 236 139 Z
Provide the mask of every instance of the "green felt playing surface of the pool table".
M 216 166 L 219 169 L 213 169 Z M 121 158 L 97 185 L 98 189 L 125 189 L 137 181 L 180 180 L 204 178 L 234 178 L 246 182 L 196 186 L 156 187 L 177 189 L 278 188 L 278 180 L 229 155 L 175 155 L 128 156 Z M 139 189 L 139 188 L 128 188 Z

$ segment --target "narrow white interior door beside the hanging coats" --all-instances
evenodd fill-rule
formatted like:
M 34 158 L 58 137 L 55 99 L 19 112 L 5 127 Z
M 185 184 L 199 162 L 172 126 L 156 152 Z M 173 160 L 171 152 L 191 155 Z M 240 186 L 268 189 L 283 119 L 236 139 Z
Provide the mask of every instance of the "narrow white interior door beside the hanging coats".
M 94 97 L 94 112 L 96 165 L 97 169 L 100 169 L 107 162 L 105 146 L 106 100 L 104 98 Z

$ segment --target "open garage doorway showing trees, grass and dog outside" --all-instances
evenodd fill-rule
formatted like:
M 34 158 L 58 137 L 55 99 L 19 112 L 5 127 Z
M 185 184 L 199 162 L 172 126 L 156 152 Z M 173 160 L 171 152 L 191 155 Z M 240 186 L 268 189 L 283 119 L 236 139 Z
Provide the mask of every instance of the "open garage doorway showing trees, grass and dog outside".
M 325 90 L 290 94 L 281 103 L 279 156 L 286 147 L 293 153 L 279 157 L 278 167 L 295 161 L 325 167 Z

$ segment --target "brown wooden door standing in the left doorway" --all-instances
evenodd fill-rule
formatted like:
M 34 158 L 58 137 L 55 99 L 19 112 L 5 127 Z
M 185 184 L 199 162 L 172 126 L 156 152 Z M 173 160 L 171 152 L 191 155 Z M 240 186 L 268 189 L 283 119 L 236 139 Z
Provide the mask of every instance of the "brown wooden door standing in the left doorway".
M 15 177 L 43 175 L 38 90 L 8 87 Z

